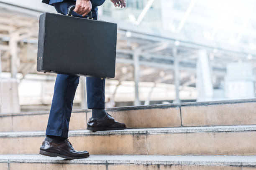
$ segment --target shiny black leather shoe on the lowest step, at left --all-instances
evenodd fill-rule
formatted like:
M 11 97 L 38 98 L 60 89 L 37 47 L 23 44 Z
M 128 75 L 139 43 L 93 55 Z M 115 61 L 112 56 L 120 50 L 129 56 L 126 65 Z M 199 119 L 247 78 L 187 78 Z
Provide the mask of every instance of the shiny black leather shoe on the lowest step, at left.
M 72 147 L 72 144 L 68 139 L 64 140 L 61 143 L 49 143 L 44 140 L 43 144 L 40 147 L 41 155 L 51 156 L 51 157 L 61 157 L 65 159 L 81 159 L 89 157 L 87 151 L 76 151 Z

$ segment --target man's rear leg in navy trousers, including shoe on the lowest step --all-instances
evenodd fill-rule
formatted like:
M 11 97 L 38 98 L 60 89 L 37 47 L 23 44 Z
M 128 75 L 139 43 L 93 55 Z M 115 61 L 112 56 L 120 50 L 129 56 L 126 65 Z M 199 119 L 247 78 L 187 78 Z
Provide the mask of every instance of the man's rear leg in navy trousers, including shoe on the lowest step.
M 66 14 L 75 1 L 65 0 L 54 3 L 58 13 Z M 72 12 L 74 16 L 78 16 Z M 87 151 L 76 151 L 69 143 L 69 120 L 72 112 L 74 95 L 79 83 L 79 76 L 58 74 L 54 87 L 54 97 L 46 129 L 46 138 L 40 147 L 40 154 L 66 159 L 87 158 Z

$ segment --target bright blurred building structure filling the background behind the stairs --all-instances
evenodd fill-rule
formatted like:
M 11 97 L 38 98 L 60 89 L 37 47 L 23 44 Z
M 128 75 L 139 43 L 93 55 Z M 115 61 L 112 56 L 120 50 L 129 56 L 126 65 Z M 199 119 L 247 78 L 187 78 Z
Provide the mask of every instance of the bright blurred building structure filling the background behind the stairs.
M 250 82 L 246 79 L 243 84 L 248 92 L 241 93 L 254 97 L 254 4 L 253 0 L 128 0 L 120 9 L 106 0 L 99 7 L 99 19 L 118 23 L 116 74 L 106 80 L 106 100 L 110 97 L 121 106 L 237 98 L 242 95 L 231 95 L 230 87 L 224 87 L 236 78 L 230 78 L 234 73 L 227 72 L 227 65 L 238 61 L 251 63 Z M 56 75 L 36 72 L 38 18 L 44 12 L 56 13 L 41 0 L 0 0 L 3 77 L 16 78 L 21 108 L 48 110 L 51 104 Z M 81 82 L 74 105 L 86 108 L 84 78 Z

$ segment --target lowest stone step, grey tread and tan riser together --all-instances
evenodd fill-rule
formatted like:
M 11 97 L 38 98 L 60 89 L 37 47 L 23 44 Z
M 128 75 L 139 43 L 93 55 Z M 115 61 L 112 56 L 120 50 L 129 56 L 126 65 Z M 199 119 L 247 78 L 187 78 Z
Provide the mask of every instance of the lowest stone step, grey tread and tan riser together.
M 63 160 L 0 155 L 1 170 L 256 170 L 256 156 L 91 155 Z

